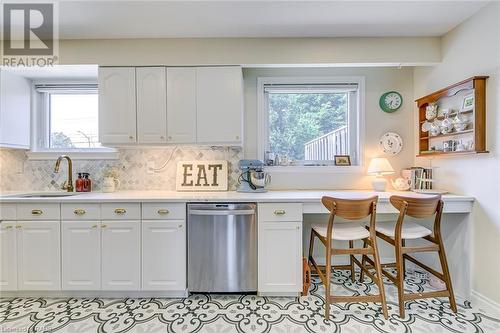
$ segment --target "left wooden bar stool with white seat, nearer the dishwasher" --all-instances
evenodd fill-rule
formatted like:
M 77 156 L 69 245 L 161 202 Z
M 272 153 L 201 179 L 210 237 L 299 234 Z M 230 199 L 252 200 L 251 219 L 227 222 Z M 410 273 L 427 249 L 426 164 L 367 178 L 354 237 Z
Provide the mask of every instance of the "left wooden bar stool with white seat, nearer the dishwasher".
M 325 285 L 325 319 L 330 318 L 330 303 L 331 302 L 381 302 L 382 312 L 387 319 L 387 304 L 385 301 L 384 284 L 382 282 L 382 268 L 380 266 L 380 258 L 377 250 L 376 235 L 375 235 L 375 213 L 378 197 L 371 197 L 368 199 L 352 200 L 352 199 L 338 199 L 331 197 L 323 197 L 321 202 L 330 211 L 328 219 L 328 226 L 313 226 L 311 230 L 311 241 L 309 243 L 309 262 L 313 269 L 318 273 L 321 281 Z M 333 221 L 335 216 L 347 220 L 360 220 L 370 216 L 370 226 L 365 228 L 361 221 L 336 223 Z M 314 239 L 318 237 L 319 240 L 326 247 L 326 265 L 318 266 L 313 258 Z M 365 247 L 354 248 L 354 240 L 362 239 Z M 334 249 L 332 247 L 333 240 L 349 241 L 348 249 Z M 331 257 L 334 255 L 350 256 L 350 265 L 335 266 L 335 268 L 350 269 L 351 279 L 355 281 L 354 276 L 354 263 L 358 265 L 361 270 L 365 270 L 373 281 L 377 284 L 379 293 L 378 295 L 361 295 L 361 296 L 332 296 L 330 295 L 330 279 L 332 272 Z M 368 269 L 364 268 L 354 255 L 372 255 L 375 262 L 376 276 L 373 275 Z M 325 272 L 321 269 L 324 268 Z

